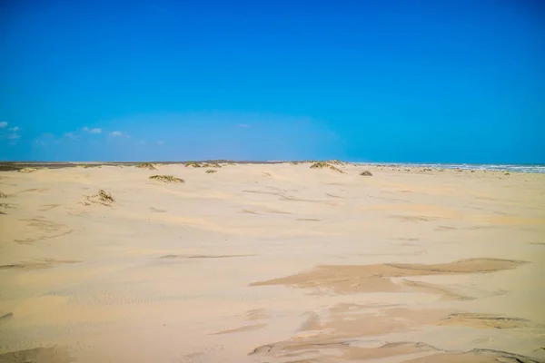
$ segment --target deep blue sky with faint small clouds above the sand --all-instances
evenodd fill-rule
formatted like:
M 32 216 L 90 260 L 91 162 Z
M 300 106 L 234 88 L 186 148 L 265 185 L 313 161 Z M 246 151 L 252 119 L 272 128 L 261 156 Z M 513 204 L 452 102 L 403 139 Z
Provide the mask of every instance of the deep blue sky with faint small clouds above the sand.
M 0 4 L 0 160 L 545 163 L 539 0 Z

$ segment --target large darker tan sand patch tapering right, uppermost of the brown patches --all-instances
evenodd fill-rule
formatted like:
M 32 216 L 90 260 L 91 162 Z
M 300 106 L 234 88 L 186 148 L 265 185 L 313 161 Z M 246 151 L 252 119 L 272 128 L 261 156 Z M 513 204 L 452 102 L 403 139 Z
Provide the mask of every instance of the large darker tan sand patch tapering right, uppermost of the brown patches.
M 253 282 L 250 286 L 288 285 L 296 288 L 332 290 L 335 293 L 398 291 L 403 285 L 391 278 L 461 273 L 486 273 L 515 269 L 519 260 L 470 259 L 433 265 L 327 265 L 280 279 Z M 408 286 L 407 286 L 408 287 Z

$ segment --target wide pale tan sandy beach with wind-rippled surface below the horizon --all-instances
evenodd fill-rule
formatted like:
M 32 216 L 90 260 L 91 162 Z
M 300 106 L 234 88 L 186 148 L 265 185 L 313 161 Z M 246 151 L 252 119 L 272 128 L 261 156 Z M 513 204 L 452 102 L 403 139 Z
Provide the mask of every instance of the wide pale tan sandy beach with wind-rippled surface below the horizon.
M 545 361 L 545 174 L 310 165 L 0 172 L 0 362 Z

